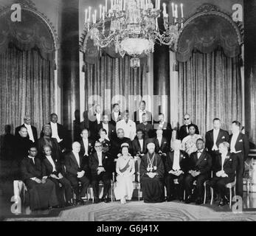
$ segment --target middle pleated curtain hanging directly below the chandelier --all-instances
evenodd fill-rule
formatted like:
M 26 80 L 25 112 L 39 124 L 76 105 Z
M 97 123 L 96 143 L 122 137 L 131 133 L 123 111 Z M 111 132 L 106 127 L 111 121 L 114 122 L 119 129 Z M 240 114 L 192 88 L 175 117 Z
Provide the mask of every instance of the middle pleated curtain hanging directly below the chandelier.
M 86 111 L 90 112 L 89 104 L 100 104 L 102 110 L 111 112 L 111 105 L 120 103 L 121 111 L 128 108 L 132 114 L 139 106 L 139 96 L 149 94 L 146 71 L 146 63 L 141 63 L 136 70 L 132 69 L 128 56 L 111 58 L 104 55 L 93 65 L 86 63 Z M 94 97 L 90 99 L 92 95 Z

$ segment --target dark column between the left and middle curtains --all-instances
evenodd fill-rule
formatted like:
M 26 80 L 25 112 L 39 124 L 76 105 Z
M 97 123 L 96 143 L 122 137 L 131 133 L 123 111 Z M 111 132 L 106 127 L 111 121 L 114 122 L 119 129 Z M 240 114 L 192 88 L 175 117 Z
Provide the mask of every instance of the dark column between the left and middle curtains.
M 73 120 L 79 119 L 77 110 L 80 110 L 79 0 L 63 0 L 61 24 L 62 117 L 69 139 L 73 140 Z

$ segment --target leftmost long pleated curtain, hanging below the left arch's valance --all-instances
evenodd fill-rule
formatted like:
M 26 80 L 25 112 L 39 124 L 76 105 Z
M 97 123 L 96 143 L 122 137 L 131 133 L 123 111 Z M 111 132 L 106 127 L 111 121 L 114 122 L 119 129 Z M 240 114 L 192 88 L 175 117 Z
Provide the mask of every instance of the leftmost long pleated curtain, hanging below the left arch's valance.
M 6 125 L 14 133 L 26 114 L 39 134 L 54 111 L 53 61 L 42 58 L 38 49 L 21 51 L 10 46 L 0 55 L 0 86 L 1 136 Z

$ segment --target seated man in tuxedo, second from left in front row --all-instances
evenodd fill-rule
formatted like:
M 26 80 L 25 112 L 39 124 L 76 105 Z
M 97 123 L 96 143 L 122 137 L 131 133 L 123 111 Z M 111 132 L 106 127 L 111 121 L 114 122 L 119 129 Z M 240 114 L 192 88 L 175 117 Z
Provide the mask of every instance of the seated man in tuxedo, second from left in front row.
M 61 164 L 55 156 L 52 156 L 52 149 L 49 145 L 44 145 L 44 157 L 42 159 L 42 173 L 55 184 L 56 193 L 60 203 L 64 203 L 60 184 L 65 190 L 66 206 L 72 206 L 72 187 L 69 180 L 61 173 Z

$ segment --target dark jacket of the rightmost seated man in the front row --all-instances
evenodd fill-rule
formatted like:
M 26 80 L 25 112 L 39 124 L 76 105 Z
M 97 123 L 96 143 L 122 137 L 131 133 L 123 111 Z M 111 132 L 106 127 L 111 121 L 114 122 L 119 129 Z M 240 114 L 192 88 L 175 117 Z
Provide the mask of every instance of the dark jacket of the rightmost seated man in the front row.
M 238 165 L 238 156 L 235 153 L 227 153 L 224 161 L 223 170 L 229 178 L 235 179 L 235 170 Z M 221 154 L 218 155 L 218 162 L 215 162 L 215 166 L 212 168 L 216 173 L 221 170 Z

